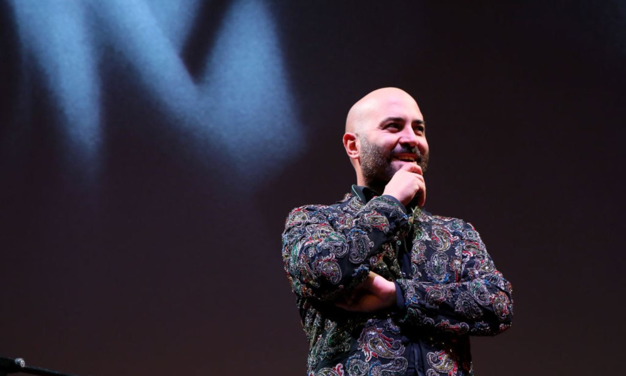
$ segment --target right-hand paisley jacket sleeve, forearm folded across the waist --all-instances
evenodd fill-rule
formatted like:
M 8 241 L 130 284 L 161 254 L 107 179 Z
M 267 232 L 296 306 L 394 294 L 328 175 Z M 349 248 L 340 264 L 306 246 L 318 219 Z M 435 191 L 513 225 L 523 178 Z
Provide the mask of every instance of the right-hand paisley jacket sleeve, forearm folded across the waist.
M 402 321 L 455 335 L 503 332 L 510 327 L 513 315 L 511 283 L 496 270 L 475 228 L 464 223 L 461 233 L 454 250 L 461 256 L 456 259 L 458 265 L 446 265 L 448 258 L 443 252 L 434 252 L 426 262 L 426 268 L 460 270 L 458 280 L 427 282 L 419 273 L 414 278 L 396 280 L 404 300 Z

